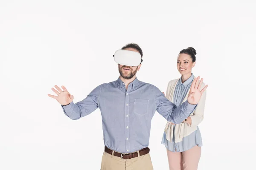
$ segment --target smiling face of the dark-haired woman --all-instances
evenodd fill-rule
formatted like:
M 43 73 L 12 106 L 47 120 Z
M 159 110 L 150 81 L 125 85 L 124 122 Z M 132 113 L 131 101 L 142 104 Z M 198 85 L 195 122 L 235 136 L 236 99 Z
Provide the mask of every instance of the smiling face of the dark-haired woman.
M 192 58 L 189 54 L 179 54 L 177 59 L 177 69 L 181 75 L 190 74 L 192 68 L 195 66 L 195 62 L 192 62 Z

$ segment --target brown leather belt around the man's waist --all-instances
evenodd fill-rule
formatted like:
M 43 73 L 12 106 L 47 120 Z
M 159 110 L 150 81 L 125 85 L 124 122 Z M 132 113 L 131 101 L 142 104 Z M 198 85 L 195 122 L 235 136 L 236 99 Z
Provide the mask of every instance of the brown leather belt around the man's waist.
M 148 147 L 145 147 L 142 150 L 139 150 L 140 156 L 143 156 L 143 155 L 149 153 L 149 150 L 150 149 Z M 134 153 L 118 153 L 116 151 L 113 151 L 113 150 L 109 149 L 108 147 L 105 147 L 105 152 L 109 153 L 111 155 L 112 155 L 112 152 L 114 152 L 114 156 L 118 156 L 121 159 L 132 159 L 132 158 L 138 157 L 137 152 L 134 152 Z

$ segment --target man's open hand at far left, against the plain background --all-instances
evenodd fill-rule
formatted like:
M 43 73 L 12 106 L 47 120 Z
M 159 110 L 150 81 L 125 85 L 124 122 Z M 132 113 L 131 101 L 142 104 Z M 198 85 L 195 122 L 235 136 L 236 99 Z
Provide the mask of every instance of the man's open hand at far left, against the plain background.
M 55 94 L 57 94 L 57 96 L 48 94 L 49 97 L 51 97 L 53 99 L 56 99 L 61 105 L 68 105 L 68 104 L 70 104 L 73 101 L 74 96 L 71 95 L 64 86 L 61 86 L 63 91 L 57 85 L 55 85 L 54 87 L 57 90 L 55 88 L 52 88 L 52 91 Z

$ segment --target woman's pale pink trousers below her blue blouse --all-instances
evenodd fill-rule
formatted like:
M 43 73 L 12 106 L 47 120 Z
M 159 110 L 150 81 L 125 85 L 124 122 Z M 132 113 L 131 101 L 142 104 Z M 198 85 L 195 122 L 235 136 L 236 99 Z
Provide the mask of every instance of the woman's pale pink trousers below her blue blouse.
M 167 150 L 170 170 L 197 170 L 201 157 L 201 147 L 197 145 L 185 152 Z

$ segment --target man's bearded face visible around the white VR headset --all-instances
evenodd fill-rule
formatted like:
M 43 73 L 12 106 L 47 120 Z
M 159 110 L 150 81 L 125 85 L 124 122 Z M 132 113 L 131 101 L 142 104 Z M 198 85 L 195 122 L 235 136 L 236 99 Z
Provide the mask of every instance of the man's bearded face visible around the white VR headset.
M 130 51 L 136 51 L 136 52 L 139 52 L 137 51 L 136 49 L 134 48 L 125 48 L 124 50 L 130 50 Z M 134 66 L 134 67 L 131 67 L 131 66 L 127 66 L 127 65 L 118 65 L 118 70 L 119 70 L 119 73 L 120 75 L 124 78 L 124 79 L 131 79 L 133 78 L 137 71 L 140 70 L 140 66 Z

